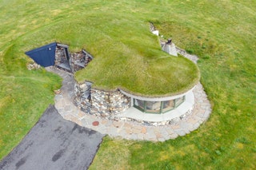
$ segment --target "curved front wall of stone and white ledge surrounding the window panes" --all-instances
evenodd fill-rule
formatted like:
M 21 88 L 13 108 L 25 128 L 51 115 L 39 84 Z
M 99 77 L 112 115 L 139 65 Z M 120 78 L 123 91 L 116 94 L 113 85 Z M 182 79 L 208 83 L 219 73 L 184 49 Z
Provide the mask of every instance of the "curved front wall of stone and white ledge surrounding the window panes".
M 182 119 L 194 109 L 194 94 L 190 89 L 172 97 L 146 98 L 126 93 L 121 89 L 115 91 L 104 91 L 92 89 L 92 83 L 84 82 L 74 85 L 74 104 L 82 111 L 109 120 L 139 121 L 150 125 L 170 124 L 174 119 Z M 178 105 L 174 104 L 173 109 L 162 112 L 164 102 L 180 100 Z M 148 113 L 139 109 L 134 104 L 135 100 L 150 101 L 162 107 L 161 112 Z M 156 106 L 157 107 L 157 106 Z M 138 109 L 136 109 L 138 108 Z

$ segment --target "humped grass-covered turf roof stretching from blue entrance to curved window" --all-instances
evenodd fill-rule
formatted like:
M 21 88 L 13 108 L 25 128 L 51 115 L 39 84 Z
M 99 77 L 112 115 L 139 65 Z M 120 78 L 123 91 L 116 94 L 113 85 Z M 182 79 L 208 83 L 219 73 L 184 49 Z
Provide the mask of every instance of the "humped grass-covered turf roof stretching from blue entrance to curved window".
M 107 12 L 86 14 L 86 18 L 76 14 L 31 29 L 15 40 L 20 53 L 50 42 L 69 45 L 72 53 L 86 49 L 94 60 L 75 73 L 75 78 L 80 83 L 94 82 L 96 89 L 166 97 L 186 92 L 200 77 L 192 61 L 162 51 L 149 22 L 142 18 Z

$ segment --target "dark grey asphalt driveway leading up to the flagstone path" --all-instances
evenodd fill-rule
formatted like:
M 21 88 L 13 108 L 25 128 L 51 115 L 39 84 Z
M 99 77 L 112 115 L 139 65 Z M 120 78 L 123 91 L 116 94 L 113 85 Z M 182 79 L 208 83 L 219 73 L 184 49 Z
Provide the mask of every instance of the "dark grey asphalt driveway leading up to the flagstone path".
M 1 160 L 0 169 L 87 169 L 102 137 L 99 132 L 64 120 L 50 105 L 21 143 Z

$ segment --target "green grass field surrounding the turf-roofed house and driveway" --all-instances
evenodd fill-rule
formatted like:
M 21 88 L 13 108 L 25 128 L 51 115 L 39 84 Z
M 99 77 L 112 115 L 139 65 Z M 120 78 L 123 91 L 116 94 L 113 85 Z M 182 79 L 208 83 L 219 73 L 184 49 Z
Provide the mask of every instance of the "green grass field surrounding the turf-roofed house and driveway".
M 106 50 L 122 41 L 121 23 L 136 35 L 126 42 L 138 50 L 146 23 L 154 22 L 165 38 L 200 57 L 213 113 L 198 130 L 163 143 L 106 137 L 90 168 L 255 169 L 255 9 L 254 1 L 1 1 L 0 159 L 53 104 L 61 85 L 44 69 L 28 71 L 26 50 L 54 41 L 72 51 Z M 142 37 L 136 26 L 145 29 Z

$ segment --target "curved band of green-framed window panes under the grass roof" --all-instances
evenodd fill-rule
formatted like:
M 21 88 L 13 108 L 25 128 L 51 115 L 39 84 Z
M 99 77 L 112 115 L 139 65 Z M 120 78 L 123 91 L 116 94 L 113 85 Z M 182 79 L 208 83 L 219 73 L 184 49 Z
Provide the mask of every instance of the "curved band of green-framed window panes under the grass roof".
M 185 101 L 185 96 L 170 101 L 142 101 L 134 99 L 134 107 L 144 113 L 166 113 Z

